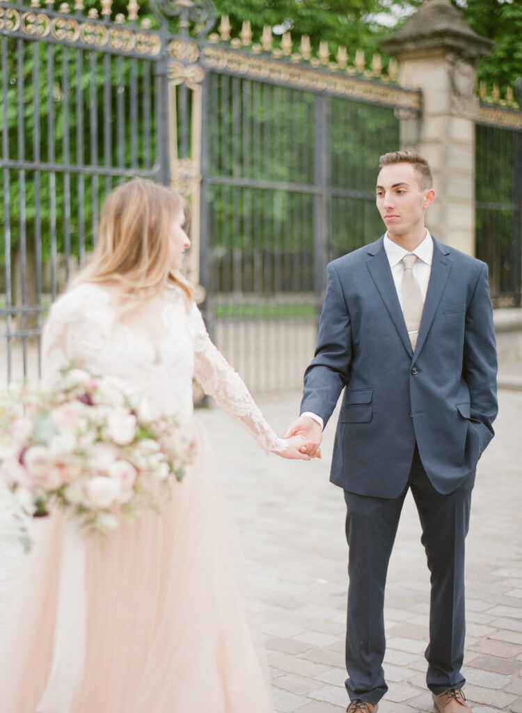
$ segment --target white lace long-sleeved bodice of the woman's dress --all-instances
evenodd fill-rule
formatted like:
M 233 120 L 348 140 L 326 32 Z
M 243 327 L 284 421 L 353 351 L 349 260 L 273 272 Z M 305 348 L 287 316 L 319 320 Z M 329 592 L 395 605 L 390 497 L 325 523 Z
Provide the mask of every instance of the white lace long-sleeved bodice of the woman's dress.
M 284 450 L 240 376 L 210 341 L 196 304 L 188 311 L 180 289 L 168 287 L 150 309 L 150 318 L 160 324 L 156 339 L 143 336 L 147 330 L 139 327 L 146 324 L 131 329 L 118 318 L 105 287 L 84 283 L 66 292 L 51 307 L 44 328 L 44 379 L 75 363 L 128 381 L 145 395 L 153 417 L 185 421 L 193 414 L 195 377 L 265 451 Z

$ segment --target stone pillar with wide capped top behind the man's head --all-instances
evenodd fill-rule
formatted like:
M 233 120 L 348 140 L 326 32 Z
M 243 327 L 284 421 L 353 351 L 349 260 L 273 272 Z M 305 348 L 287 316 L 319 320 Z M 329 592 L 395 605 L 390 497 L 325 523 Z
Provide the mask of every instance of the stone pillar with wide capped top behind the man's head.
M 421 89 L 422 116 L 401 119 L 401 148 L 426 156 L 436 201 L 426 226 L 446 245 L 475 252 L 475 66 L 493 43 L 472 31 L 449 0 L 426 0 L 381 42 L 400 62 L 399 82 Z

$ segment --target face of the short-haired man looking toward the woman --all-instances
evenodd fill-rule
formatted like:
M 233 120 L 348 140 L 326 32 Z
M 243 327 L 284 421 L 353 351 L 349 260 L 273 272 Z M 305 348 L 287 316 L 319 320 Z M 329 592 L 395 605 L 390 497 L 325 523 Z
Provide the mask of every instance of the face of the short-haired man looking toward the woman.
M 421 188 L 411 163 L 384 166 L 377 177 L 377 209 L 390 237 L 409 237 L 424 229 L 424 212 L 435 198 L 433 189 Z

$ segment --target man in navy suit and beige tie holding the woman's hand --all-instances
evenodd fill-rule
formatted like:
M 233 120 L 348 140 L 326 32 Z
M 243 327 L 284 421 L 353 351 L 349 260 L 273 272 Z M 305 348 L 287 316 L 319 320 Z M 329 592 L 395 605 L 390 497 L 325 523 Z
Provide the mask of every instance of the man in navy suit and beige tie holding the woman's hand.
M 497 413 L 488 270 L 424 227 L 435 191 L 421 155 L 382 156 L 376 190 L 387 232 L 328 266 L 302 415 L 287 434 L 319 444 L 344 389 L 331 481 L 347 504 L 347 712 L 375 713 L 387 692 L 384 584 L 411 489 L 431 573 L 426 682 L 439 712 L 465 713 L 464 540 Z

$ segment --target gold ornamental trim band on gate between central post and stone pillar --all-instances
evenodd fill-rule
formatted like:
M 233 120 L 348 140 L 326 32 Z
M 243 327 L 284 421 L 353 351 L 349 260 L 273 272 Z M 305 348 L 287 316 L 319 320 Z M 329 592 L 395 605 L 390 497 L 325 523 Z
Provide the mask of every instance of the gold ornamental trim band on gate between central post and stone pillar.
M 280 60 L 239 53 L 226 48 L 208 46 L 203 49 L 203 63 L 207 68 L 226 70 L 252 79 L 270 79 L 275 83 L 299 89 L 327 91 L 351 98 L 366 99 L 388 106 L 421 111 L 419 93 L 377 82 L 366 82 L 329 71 L 295 66 Z

